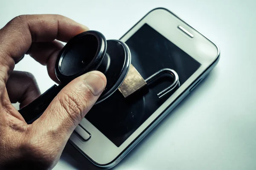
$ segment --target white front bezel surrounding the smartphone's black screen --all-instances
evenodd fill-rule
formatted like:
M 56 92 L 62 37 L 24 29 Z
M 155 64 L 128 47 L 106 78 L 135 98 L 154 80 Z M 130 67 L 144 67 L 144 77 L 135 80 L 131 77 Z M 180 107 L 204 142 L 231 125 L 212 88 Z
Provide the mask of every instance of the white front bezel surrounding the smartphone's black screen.
M 115 160 L 116 157 L 122 153 L 128 145 L 133 142 L 137 136 L 139 136 L 145 128 L 147 128 L 154 119 L 162 113 L 169 105 L 175 101 L 180 94 L 183 93 L 189 86 L 195 82 L 195 80 L 212 65 L 218 57 L 218 47 L 206 37 L 201 35 L 198 31 L 187 25 L 185 22 L 180 20 L 174 14 L 169 11 L 158 8 L 148 13 L 139 23 L 137 23 L 127 34 L 125 34 L 121 41 L 125 42 L 128 40 L 141 26 L 147 23 L 149 26 L 154 28 L 172 43 L 177 45 L 180 49 L 185 51 L 189 56 L 201 63 L 200 68 L 192 74 L 175 93 L 163 103 L 163 105 L 157 109 L 129 138 L 120 146 L 116 147 L 106 136 L 104 136 L 96 127 L 94 127 L 87 119 L 81 121 L 83 126 L 91 134 L 91 138 L 84 142 L 80 139 L 76 133 L 73 133 L 70 137 L 71 142 L 91 161 L 98 165 L 109 164 Z M 191 34 L 193 38 L 187 36 L 181 31 L 178 26 L 182 26 Z

